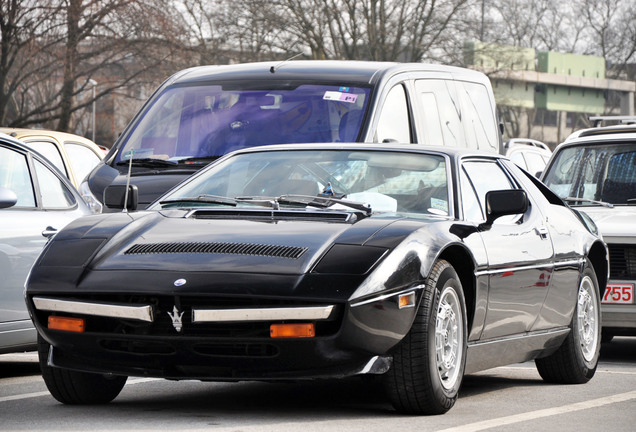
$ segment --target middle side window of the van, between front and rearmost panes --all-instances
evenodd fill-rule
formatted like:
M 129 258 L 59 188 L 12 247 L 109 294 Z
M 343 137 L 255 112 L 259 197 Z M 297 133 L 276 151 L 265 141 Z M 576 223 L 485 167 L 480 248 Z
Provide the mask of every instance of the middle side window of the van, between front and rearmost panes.
M 420 79 L 415 81 L 415 89 L 424 117 L 417 119 L 419 130 L 424 135 L 423 143 L 465 147 L 454 81 Z M 430 103 L 435 103 L 435 106 L 427 106 Z M 440 141 L 440 129 L 443 141 Z

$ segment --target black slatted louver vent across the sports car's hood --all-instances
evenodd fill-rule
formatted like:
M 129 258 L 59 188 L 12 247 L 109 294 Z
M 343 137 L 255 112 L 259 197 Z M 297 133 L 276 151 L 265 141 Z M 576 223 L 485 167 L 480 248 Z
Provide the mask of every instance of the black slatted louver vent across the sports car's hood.
M 307 248 L 296 246 L 276 246 L 251 243 L 147 243 L 136 244 L 130 247 L 124 254 L 179 254 L 179 253 L 203 253 L 203 254 L 234 254 L 234 255 L 259 255 L 278 258 L 298 259 Z

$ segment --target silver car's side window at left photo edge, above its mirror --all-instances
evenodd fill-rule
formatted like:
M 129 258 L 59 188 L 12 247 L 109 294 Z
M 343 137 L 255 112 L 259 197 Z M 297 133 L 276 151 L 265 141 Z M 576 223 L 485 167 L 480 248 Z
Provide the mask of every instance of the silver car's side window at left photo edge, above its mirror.
M 0 148 L 0 186 L 12 190 L 18 196 L 14 207 L 35 207 L 33 183 L 24 155 Z

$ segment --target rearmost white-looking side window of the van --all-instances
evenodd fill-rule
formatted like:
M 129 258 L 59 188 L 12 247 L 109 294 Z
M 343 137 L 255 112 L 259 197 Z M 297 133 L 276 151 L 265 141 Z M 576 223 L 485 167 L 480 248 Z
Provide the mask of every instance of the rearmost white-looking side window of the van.
M 470 82 L 457 82 L 457 89 L 462 101 L 462 123 L 467 146 L 497 151 L 497 122 L 492 114 L 488 90 L 481 84 Z

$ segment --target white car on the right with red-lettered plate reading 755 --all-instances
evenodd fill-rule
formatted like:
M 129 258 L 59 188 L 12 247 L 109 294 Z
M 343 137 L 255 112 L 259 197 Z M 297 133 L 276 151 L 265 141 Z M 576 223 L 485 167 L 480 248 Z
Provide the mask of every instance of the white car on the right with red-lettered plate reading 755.
M 598 225 L 610 252 L 603 336 L 636 336 L 636 125 L 576 132 L 559 145 L 543 181 Z

